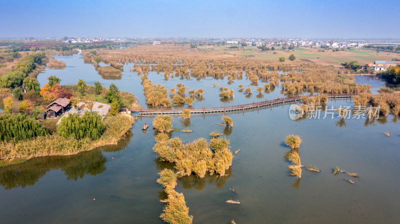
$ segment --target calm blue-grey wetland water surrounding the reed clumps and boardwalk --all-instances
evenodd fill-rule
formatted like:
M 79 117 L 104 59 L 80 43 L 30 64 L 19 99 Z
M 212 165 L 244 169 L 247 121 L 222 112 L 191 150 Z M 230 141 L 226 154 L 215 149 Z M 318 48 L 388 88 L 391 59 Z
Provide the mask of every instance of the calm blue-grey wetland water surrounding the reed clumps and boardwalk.
M 79 78 L 84 78 L 87 84 L 99 80 L 107 86 L 114 82 L 144 104 L 139 77 L 129 73 L 126 65 L 120 80 L 103 80 L 92 65 L 83 64 L 78 57 L 56 56 L 66 62 L 66 69 L 46 69 L 38 76 L 40 84 L 46 83 L 49 75 L 61 78 L 61 84 L 75 84 Z M 226 79 L 170 78 L 165 82 L 162 75 L 155 73 L 150 73 L 149 79 L 168 88 L 178 82 L 190 89 L 204 88 L 205 100 L 195 101 L 200 106 L 221 103 L 219 91 L 210 88 L 212 83 L 228 86 Z M 235 99 L 229 103 L 258 100 L 255 86 L 249 99 L 241 98 L 237 92 L 239 83 L 249 84 L 249 81 L 243 78 L 231 85 Z M 261 85 L 260 81 L 258 84 Z M 280 89 L 263 93 L 264 98 L 283 96 Z M 327 105 L 352 103 L 337 100 L 328 101 Z M 191 175 L 179 179 L 176 191 L 183 193 L 193 223 L 225 224 L 230 220 L 238 224 L 397 223 L 400 118 L 389 115 L 372 121 L 343 122 L 337 117 L 293 121 L 289 119 L 288 108 L 285 105 L 229 114 L 232 128 L 216 125 L 221 122 L 220 115 L 192 115 L 190 120 L 173 117 L 174 128 L 188 127 L 193 132 L 173 132 L 172 137 L 186 142 L 200 137 L 208 139 L 208 134 L 216 130 L 230 139 L 231 151 L 240 149 L 224 177 L 206 175 L 198 179 Z M 159 200 L 165 195 L 156 183 L 157 173 L 173 165 L 156 160 L 152 152 L 154 131 L 140 130 L 144 122 L 151 124 L 152 119 L 136 120 L 131 133 L 116 146 L 73 156 L 36 158 L 0 168 L 0 223 L 162 224 L 158 216 L 164 205 Z M 392 135 L 385 137 L 384 132 Z M 289 163 L 283 158 L 290 150 L 283 144 L 289 134 L 302 137 L 299 148 L 302 165 L 316 165 L 320 173 L 303 170 L 301 179 L 289 175 Z M 360 177 L 343 173 L 333 176 L 336 165 Z M 355 184 L 346 182 L 349 179 Z M 232 187 L 237 195 L 229 191 Z M 224 203 L 229 199 L 242 204 Z

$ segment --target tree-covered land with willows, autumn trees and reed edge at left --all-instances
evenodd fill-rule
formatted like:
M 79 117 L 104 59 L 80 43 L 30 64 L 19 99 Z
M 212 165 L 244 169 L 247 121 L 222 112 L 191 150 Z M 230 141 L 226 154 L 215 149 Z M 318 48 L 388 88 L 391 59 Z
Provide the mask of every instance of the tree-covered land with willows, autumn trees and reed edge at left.
M 0 166 L 116 144 L 134 123 L 130 114 L 119 113 L 119 109 L 135 106 L 136 98 L 131 93 L 120 92 L 114 84 L 107 89 L 100 82 L 87 86 L 80 79 L 77 85 L 61 86 L 59 78 L 50 76 L 48 83 L 39 88 L 35 70 L 44 57 L 41 53 L 26 54 L 0 76 L 5 111 L 0 114 Z M 48 108 L 56 99 L 66 102 L 62 113 L 60 107 Z M 109 104 L 109 112 L 92 111 L 96 104 Z M 73 108 L 75 111 L 86 108 L 86 111 L 64 115 L 64 109 L 68 110 L 69 106 L 70 111 Z M 54 108 L 55 118 L 37 120 L 39 114 L 50 111 L 48 115 L 51 115 Z

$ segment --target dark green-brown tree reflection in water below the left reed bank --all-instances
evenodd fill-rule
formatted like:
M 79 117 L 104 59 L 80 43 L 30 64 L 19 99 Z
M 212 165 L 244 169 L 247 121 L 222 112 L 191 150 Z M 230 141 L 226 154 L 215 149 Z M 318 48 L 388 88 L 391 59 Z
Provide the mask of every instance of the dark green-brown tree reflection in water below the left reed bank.
M 0 185 L 4 189 L 24 188 L 34 185 L 51 170 L 64 171 L 67 180 L 77 180 L 84 175 L 95 176 L 105 171 L 107 159 L 99 149 L 72 156 L 40 157 L 25 163 L 0 169 Z

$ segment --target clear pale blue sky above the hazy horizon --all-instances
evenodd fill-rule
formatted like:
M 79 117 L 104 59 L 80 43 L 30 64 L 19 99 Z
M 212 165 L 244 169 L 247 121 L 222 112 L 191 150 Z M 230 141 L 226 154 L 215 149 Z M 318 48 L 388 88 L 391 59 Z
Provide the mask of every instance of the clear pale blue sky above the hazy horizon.
M 400 38 L 400 0 L 0 0 L 0 37 Z

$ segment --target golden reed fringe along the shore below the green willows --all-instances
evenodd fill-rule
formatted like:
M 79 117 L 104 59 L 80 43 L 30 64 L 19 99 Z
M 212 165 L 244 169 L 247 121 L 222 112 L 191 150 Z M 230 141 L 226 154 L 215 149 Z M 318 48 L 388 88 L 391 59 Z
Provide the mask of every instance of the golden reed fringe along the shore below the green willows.
M 1 142 L 0 166 L 21 163 L 34 157 L 73 155 L 99 146 L 116 144 L 130 130 L 134 118 L 127 114 L 118 114 L 107 116 L 103 123 L 105 131 L 96 141 L 89 138 L 64 138 L 54 133 L 18 143 Z

